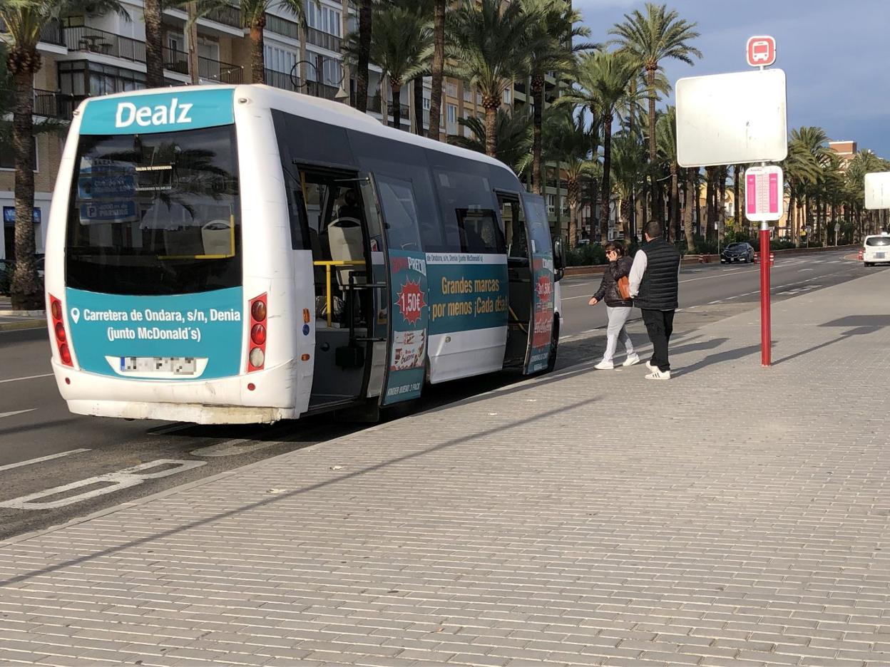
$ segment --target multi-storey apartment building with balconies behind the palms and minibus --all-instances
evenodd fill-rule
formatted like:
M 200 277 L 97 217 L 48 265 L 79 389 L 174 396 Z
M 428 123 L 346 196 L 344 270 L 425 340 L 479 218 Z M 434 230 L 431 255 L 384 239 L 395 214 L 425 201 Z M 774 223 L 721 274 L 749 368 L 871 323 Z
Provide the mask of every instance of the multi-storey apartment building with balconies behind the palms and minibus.
M 70 120 L 72 111 L 85 97 L 112 92 L 139 90 L 145 84 L 145 26 L 141 0 L 125 2 L 129 19 L 114 13 L 72 16 L 47 24 L 38 50 L 42 68 L 35 76 L 35 116 Z M 312 0 L 306 2 L 308 28 L 303 30 L 281 7 L 267 13 L 263 33 L 265 80 L 267 84 L 290 91 L 316 95 L 344 102 L 354 100 L 354 76 L 344 65 L 344 36 L 358 29 L 355 9 L 349 0 Z M 165 79 L 169 85 L 191 83 L 186 35 L 187 15 L 181 10 L 164 12 L 163 44 Z M 6 31 L 0 21 L 0 39 Z M 250 40 L 242 28 L 237 4 L 214 10 L 198 20 L 198 83 L 240 84 L 250 82 Z M 504 92 L 504 104 L 521 107 L 529 104 L 529 82 L 516 82 Z M 417 113 L 424 127 L 429 126 L 432 97 L 429 79 L 425 80 L 423 108 L 413 108 L 411 86 L 401 89 L 401 127 L 410 130 Z M 372 65 L 368 82 L 368 113 L 392 125 L 391 93 L 380 68 Z M 481 95 L 461 81 L 447 79 L 442 86 L 442 140 L 461 132 L 458 118 L 482 117 Z M 557 82 L 547 80 L 548 100 L 558 92 Z M 44 252 L 45 221 L 53 185 L 58 173 L 63 133 L 39 133 L 36 136 L 35 235 L 38 253 Z M 14 157 L 12 151 L 0 155 L 0 259 L 13 255 Z M 557 213 L 555 176 L 548 183 L 546 197 L 555 221 L 566 213 Z M 562 189 L 563 209 L 565 189 Z

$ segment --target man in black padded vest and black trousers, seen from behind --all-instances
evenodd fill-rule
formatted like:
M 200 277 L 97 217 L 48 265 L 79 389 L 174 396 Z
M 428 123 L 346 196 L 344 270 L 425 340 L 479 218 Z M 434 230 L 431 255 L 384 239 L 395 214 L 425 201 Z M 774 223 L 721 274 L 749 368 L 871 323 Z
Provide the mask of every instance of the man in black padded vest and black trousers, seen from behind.
M 636 251 L 630 269 L 630 295 L 643 313 L 643 322 L 652 342 L 651 371 L 647 380 L 670 380 L 667 343 L 674 331 L 674 311 L 679 289 L 680 253 L 662 237 L 659 221 L 649 221 L 643 229 L 645 243 Z

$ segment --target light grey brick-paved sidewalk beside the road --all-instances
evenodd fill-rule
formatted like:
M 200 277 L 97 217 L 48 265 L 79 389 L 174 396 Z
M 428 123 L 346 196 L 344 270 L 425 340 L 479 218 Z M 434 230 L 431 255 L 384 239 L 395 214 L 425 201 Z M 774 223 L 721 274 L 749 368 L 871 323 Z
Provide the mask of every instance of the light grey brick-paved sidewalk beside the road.
M 890 664 L 888 288 L 4 542 L 0 663 Z

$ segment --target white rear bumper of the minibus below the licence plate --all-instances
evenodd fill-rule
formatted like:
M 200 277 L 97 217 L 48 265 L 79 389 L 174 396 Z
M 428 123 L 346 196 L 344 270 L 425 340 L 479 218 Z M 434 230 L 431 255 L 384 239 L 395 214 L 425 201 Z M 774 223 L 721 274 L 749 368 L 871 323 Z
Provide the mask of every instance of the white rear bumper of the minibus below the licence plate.
M 75 414 L 199 424 L 271 423 L 299 416 L 289 362 L 204 382 L 116 378 L 61 366 L 54 358 L 53 372 Z

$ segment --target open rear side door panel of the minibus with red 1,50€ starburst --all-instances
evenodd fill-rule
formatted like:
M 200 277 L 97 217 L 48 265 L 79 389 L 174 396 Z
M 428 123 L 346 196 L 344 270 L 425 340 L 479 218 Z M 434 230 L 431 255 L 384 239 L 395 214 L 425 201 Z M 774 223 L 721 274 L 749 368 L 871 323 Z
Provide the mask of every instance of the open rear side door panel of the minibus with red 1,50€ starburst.
M 426 255 L 411 181 L 380 174 L 369 174 L 368 179 L 384 223 L 381 250 L 388 287 L 383 292 L 390 305 L 380 406 L 391 406 L 420 398 L 424 386 L 429 348 Z

